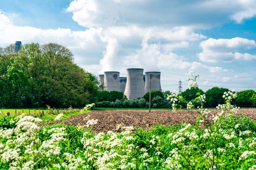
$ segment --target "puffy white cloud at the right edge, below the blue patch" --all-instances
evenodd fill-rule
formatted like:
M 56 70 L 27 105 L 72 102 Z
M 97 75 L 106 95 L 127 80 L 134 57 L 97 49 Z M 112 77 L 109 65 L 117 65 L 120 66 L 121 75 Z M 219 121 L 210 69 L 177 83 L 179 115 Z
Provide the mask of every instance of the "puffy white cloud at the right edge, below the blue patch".
M 234 60 L 256 59 L 256 55 L 237 52 L 256 47 L 254 40 L 248 40 L 246 38 L 209 38 L 201 42 L 200 47 L 202 48 L 202 52 L 198 54 L 198 57 L 204 62 L 232 62 Z

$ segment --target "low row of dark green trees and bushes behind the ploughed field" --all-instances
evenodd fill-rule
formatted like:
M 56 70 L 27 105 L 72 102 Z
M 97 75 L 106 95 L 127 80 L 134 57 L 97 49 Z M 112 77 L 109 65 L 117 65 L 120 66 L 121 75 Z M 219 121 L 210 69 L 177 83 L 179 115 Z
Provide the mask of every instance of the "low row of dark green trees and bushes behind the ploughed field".
M 196 107 L 201 106 L 201 102 L 196 100 L 198 92 L 206 95 L 206 105 L 208 108 L 216 108 L 218 104 L 224 104 L 223 93 L 228 92 L 229 89 L 213 87 L 206 92 L 198 88 L 187 89 L 181 93 L 184 100 L 179 101 L 181 108 L 187 108 L 187 102 L 191 101 Z M 110 95 L 111 94 L 111 95 Z M 172 108 L 167 95 L 169 91 L 152 91 L 151 92 L 151 107 L 152 108 Z M 98 102 L 96 107 L 100 108 L 148 108 L 149 107 L 149 92 L 142 98 L 136 98 L 133 100 L 127 100 L 126 96 L 122 92 L 108 92 L 100 91 L 98 93 Z M 253 90 L 240 91 L 237 94 L 237 98 L 232 104 L 240 107 L 255 107 L 256 106 L 256 92 Z

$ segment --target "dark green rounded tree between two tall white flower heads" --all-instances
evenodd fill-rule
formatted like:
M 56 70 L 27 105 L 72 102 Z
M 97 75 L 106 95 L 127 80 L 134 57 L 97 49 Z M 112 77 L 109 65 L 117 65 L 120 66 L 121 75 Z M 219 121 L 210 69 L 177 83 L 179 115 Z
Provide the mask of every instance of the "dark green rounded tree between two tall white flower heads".
M 229 89 L 213 87 L 205 92 L 206 107 L 215 108 L 218 104 L 224 104 L 223 93 L 228 92 Z

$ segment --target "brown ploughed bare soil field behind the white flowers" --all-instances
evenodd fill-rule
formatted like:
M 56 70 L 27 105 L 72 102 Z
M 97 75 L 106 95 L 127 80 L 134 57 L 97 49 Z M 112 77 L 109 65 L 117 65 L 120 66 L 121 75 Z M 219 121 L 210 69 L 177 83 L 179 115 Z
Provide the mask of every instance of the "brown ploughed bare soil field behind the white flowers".
M 208 115 L 209 121 L 219 113 L 217 109 L 209 109 L 211 113 Z M 239 109 L 237 115 L 246 115 L 251 119 L 256 120 L 256 109 Z M 67 118 L 62 123 L 66 125 L 73 124 L 85 125 L 87 120 L 85 117 L 88 113 L 83 113 Z M 180 123 L 195 124 L 195 118 L 197 117 L 196 111 L 189 110 L 152 110 L 151 113 L 148 110 L 92 110 L 90 112 L 90 119 L 98 119 L 98 124 L 94 125 L 93 130 L 95 132 L 107 132 L 108 130 L 116 130 L 116 125 L 123 123 L 124 126 L 133 126 L 140 128 L 150 128 L 156 123 L 162 125 L 174 125 Z M 55 124 L 54 122 L 52 124 Z M 60 122 L 58 122 L 60 123 Z

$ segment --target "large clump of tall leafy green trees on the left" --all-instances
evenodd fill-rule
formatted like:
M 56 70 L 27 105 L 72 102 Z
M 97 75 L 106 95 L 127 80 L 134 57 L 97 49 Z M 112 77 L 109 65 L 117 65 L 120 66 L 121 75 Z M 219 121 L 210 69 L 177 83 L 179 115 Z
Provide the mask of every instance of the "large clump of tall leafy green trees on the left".
M 96 100 L 97 84 L 62 45 L 0 48 L 0 107 L 82 107 Z

